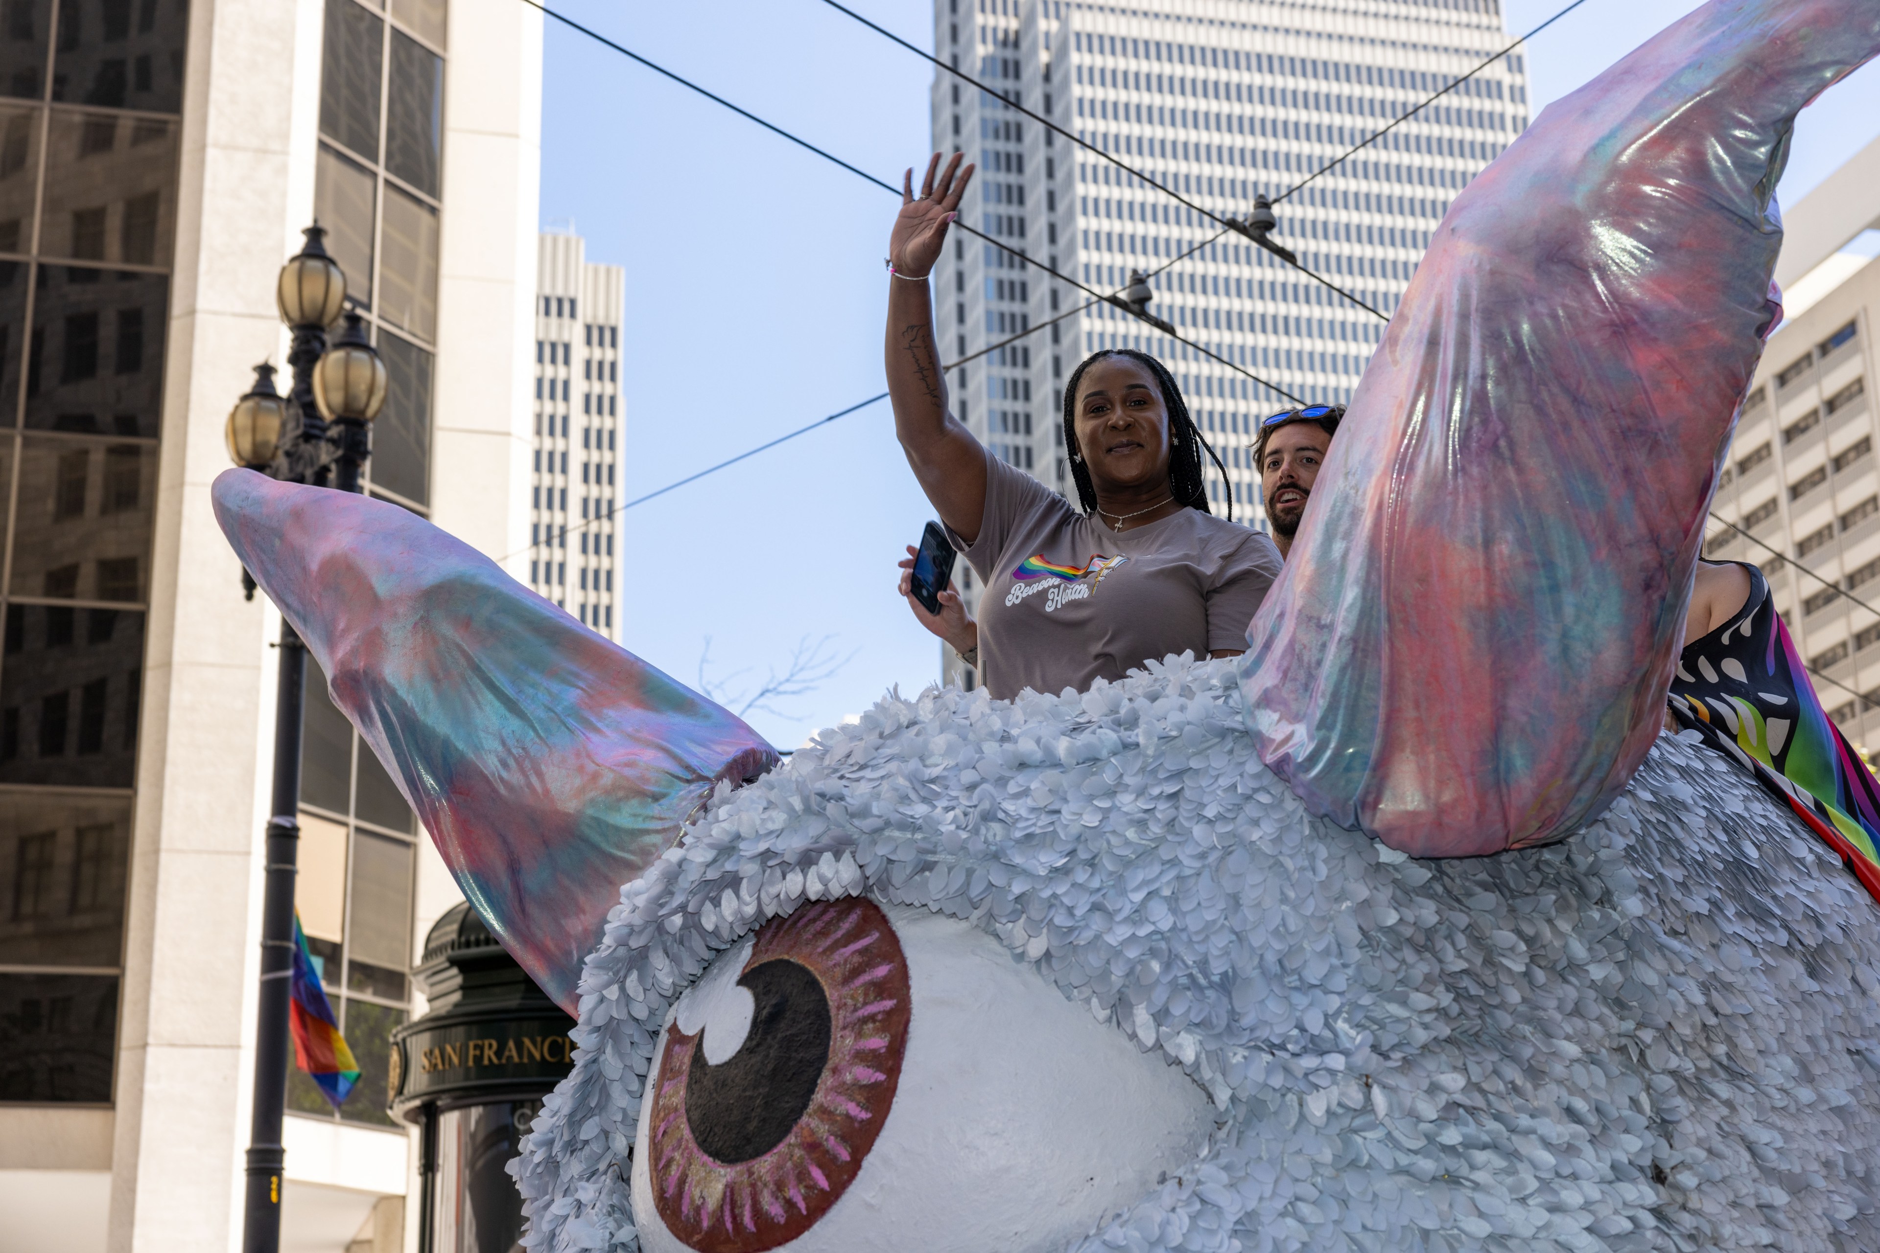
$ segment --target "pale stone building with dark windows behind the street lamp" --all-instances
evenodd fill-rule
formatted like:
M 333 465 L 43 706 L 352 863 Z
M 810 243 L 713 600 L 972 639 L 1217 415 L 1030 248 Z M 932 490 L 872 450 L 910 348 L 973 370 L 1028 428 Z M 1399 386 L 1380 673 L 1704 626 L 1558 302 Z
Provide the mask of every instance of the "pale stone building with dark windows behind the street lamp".
M 384 357 L 372 496 L 526 569 L 541 17 L 21 0 L 0 30 L 0 1244 L 233 1249 L 278 616 L 211 513 L 327 227 Z M 286 1247 L 404 1247 L 384 1110 L 461 900 L 308 665 L 297 907 L 363 1076 L 290 1073 Z M 415 1210 L 415 1206 L 414 1206 Z

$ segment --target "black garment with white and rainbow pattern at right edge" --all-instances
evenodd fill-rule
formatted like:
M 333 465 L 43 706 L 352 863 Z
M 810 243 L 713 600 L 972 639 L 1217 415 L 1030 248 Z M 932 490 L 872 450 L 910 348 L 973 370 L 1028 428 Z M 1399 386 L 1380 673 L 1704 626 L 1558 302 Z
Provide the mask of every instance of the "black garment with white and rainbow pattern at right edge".
M 1822 710 L 1769 582 L 1737 565 L 1750 597 L 1679 654 L 1671 712 L 1750 770 L 1880 900 L 1880 783 Z

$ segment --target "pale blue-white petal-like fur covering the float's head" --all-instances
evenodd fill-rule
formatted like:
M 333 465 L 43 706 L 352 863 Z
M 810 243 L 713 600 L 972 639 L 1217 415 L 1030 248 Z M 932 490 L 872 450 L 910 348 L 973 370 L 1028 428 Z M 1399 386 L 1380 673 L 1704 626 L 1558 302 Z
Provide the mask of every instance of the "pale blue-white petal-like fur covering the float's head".
M 1686 733 L 1688 736 L 1690 733 Z M 970 920 L 1228 1118 L 1077 1249 L 1880 1249 L 1874 902 L 1662 736 L 1572 840 L 1416 862 L 1307 817 L 1230 663 L 884 699 L 620 892 L 511 1165 L 530 1249 L 635 1249 L 652 1041 L 803 900 Z

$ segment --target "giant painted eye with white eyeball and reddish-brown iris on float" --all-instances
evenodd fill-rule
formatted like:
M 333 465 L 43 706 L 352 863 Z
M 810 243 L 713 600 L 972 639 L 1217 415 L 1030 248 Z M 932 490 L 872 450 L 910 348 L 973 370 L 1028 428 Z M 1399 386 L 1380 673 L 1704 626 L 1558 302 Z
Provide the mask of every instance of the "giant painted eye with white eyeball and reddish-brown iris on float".
M 675 1005 L 634 1214 L 647 1253 L 1060 1249 L 1211 1127 L 1186 1075 L 976 926 L 805 904 Z

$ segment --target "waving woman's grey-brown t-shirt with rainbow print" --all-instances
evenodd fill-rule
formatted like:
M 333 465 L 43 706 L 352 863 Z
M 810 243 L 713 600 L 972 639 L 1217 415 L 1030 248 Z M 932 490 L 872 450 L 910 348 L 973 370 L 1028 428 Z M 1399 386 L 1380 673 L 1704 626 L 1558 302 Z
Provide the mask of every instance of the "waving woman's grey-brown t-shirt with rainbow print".
M 1199 509 L 1113 532 L 991 455 L 978 539 L 948 535 L 985 582 L 979 674 L 998 699 L 1083 691 L 1169 654 L 1246 648 L 1280 573 L 1261 532 Z

